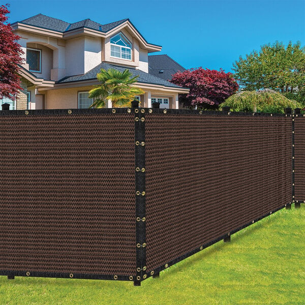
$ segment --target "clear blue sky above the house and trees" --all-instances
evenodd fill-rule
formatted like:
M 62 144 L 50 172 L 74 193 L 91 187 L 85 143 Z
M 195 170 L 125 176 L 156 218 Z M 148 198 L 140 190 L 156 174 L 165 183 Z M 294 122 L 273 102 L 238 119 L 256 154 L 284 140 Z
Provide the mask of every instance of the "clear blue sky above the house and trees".
M 36 14 L 105 24 L 129 18 L 144 38 L 163 47 L 185 68 L 230 72 L 233 62 L 261 45 L 290 40 L 305 43 L 305 0 L 291 1 L 105 1 L 5 0 L 9 21 Z

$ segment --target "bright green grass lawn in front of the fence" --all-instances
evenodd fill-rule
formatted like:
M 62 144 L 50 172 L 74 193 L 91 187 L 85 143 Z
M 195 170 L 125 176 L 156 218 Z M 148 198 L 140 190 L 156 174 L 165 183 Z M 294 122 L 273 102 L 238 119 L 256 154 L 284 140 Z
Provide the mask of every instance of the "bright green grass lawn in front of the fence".
M 305 205 L 278 211 L 141 287 L 0 277 L 0 304 L 305 304 Z

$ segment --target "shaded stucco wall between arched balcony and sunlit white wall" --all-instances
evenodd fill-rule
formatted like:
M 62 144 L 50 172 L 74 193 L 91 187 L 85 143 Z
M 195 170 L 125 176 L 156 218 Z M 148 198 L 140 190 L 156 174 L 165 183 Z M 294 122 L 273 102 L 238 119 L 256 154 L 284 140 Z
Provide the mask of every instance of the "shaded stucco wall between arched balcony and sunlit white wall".
M 66 42 L 66 75 L 83 74 L 85 69 L 85 38 L 75 38 Z

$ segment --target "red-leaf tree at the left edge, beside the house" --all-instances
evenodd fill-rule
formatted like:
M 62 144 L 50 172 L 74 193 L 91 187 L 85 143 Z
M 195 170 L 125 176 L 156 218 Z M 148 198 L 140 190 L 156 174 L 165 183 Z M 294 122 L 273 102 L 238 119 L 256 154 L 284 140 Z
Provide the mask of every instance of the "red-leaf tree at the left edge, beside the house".
M 10 11 L 8 5 L 0 6 L 0 99 L 3 97 L 17 99 L 20 77 L 16 74 L 18 64 L 23 61 L 21 46 L 16 42 L 20 37 L 13 34 L 6 16 Z

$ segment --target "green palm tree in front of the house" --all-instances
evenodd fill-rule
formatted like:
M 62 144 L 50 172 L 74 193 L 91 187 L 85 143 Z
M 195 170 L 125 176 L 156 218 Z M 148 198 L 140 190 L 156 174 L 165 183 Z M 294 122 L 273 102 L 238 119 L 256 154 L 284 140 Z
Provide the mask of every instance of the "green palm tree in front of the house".
M 112 101 L 113 107 L 130 107 L 136 95 L 144 94 L 142 89 L 132 86 L 138 78 L 132 76 L 128 69 L 123 72 L 101 69 L 97 74 L 101 84 L 89 91 L 89 98 L 94 99 L 94 103 L 89 108 L 103 108 L 107 100 Z

